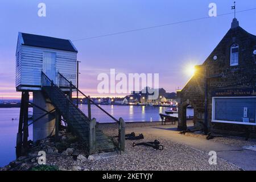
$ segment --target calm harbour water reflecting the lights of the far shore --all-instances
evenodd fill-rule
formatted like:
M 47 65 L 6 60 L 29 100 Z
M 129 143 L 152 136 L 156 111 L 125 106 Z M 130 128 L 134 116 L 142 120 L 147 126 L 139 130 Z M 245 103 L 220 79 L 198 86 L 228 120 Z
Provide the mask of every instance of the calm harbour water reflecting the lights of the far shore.
M 85 111 L 87 105 L 80 105 L 79 107 L 82 111 Z M 165 114 L 164 111 L 170 109 L 170 107 L 117 105 L 101 105 L 101 107 L 117 119 L 122 117 L 125 122 L 160 121 L 159 113 Z M 32 114 L 32 108 L 29 108 L 29 114 Z M 177 117 L 177 114 L 172 115 Z M 193 115 L 193 109 L 188 109 L 187 115 Z M 11 160 L 15 160 L 19 108 L 0 108 L 0 116 L 0 166 L 5 166 Z M 32 139 L 32 125 L 29 131 L 29 139 Z

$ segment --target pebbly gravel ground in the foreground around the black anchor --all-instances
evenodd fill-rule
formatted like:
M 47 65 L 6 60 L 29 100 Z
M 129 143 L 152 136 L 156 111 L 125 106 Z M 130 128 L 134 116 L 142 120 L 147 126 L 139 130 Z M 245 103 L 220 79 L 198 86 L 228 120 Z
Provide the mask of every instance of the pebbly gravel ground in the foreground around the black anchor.
M 155 138 L 148 135 L 144 136 L 143 141 L 154 141 Z M 54 157 L 55 161 L 51 164 L 61 164 L 61 169 L 72 170 L 79 166 L 81 170 L 238 170 L 238 167 L 217 159 L 217 165 L 209 165 L 209 156 L 205 152 L 195 150 L 183 144 L 174 143 L 168 140 L 158 138 L 159 142 L 164 146 L 163 151 L 154 150 L 151 147 L 135 146 L 133 141 L 126 141 L 125 154 L 114 156 L 108 159 L 100 159 L 94 161 L 85 161 L 83 163 L 73 160 L 71 157 L 63 156 Z M 136 142 L 140 142 L 137 140 Z M 51 158 L 48 156 L 48 162 Z

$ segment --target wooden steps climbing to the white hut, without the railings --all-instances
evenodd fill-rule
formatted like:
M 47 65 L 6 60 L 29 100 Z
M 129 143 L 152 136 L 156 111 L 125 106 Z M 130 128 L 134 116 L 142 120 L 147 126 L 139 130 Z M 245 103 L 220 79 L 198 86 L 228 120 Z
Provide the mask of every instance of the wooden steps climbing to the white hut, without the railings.
M 86 147 L 89 147 L 90 119 L 68 99 L 58 86 L 54 84 L 42 86 L 42 91 L 63 116 L 72 132 L 84 142 Z M 109 152 L 114 151 L 115 148 L 113 141 L 96 125 L 96 150 L 98 152 Z

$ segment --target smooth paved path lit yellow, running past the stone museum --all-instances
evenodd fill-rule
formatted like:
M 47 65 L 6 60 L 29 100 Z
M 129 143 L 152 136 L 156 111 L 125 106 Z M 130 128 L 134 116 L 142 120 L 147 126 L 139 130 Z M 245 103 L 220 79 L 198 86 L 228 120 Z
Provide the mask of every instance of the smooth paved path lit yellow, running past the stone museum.
M 175 125 L 134 127 L 127 128 L 126 133 L 131 131 L 137 134 L 143 133 L 154 136 L 155 139 L 163 138 L 207 153 L 209 151 L 216 151 L 219 158 L 236 164 L 241 169 L 256 170 L 256 151 L 242 148 L 242 146 L 256 145 L 256 140 L 245 141 L 243 138 L 231 137 L 207 140 L 203 135 L 179 134 L 176 127 Z

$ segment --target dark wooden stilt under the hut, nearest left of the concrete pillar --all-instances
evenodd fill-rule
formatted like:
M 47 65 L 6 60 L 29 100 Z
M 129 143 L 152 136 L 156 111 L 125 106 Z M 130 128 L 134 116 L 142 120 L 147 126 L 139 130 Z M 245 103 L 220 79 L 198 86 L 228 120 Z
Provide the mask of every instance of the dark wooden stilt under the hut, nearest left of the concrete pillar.
M 30 95 L 28 92 L 24 92 L 24 119 L 23 119 L 23 148 L 26 153 L 28 147 L 28 102 Z

